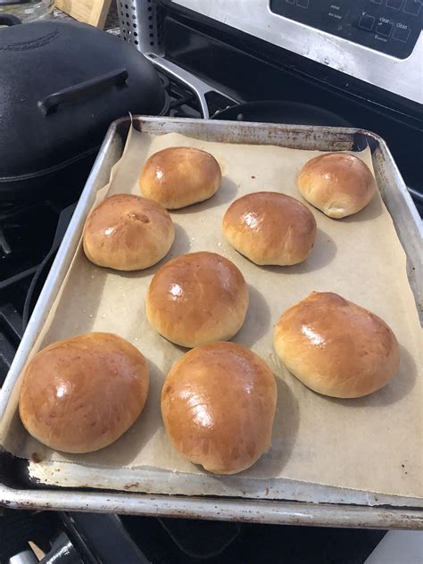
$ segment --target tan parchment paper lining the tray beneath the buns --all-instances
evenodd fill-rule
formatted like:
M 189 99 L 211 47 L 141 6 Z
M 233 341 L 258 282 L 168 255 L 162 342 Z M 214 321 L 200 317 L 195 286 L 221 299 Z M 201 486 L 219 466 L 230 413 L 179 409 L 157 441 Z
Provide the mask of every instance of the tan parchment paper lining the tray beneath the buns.
M 405 255 L 381 198 L 374 198 L 357 216 L 341 221 L 311 209 L 319 227 L 311 257 L 295 267 L 257 267 L 237 254 L 221 235 L 220 220 L 228 203 L 255 190 L 273 189 L 299 197 L 296 174 L 318 152 L 206 143 L 177 134 L 150 137 L 133 131 L 105 191 L 137 194 L 137 175 L 146 156 L 171 145 L 209 150 L 220 162 L 224 179 L 218 194 L 208 202 L 172 212 L 177 236 L 168 258 L 205 249 L 236 263 L 250 284 L 251 305 L 235 340 L 261 354 L 278 377 L 272 449 L 242 477 L 289 478 L 422 497 L 419 320 L 406 277 Z M 361 156 L 371 166 L 369 153 Z M 152 370 L 151 392 L 136 425 L 101 452 L 68 456 L 30 439 L 14 416 L 11 428 L 6 429 L 6 448 L 36 460 L 71 461 L 94 468 L 150 467 L 201 473 L 173 451 L 160 418 L 162 381 L 183 351 L 158 336 L 145 319 L 145 290 L 157 268 L 126 274 L 102 270 L 89 263 L 79 248 L 34 347 L 37 351 L 54 340 L 89 330 L 114 331 L 128 338 L 145 354 Z M 278 365 L 271 345 L 272 327 L 282 311 L 312 290 L 338 292 L 368 307 L 394 329 L 402 344 L 402 364 L 398 377 L 384 390 L 361 400 L 324 398 Z M 17 394 L 13 397 L 9 414 L 16 411 Z M 8 427 L 9 418 L 4 419 Z M 97 476 L 101 472 L 97 469 Z

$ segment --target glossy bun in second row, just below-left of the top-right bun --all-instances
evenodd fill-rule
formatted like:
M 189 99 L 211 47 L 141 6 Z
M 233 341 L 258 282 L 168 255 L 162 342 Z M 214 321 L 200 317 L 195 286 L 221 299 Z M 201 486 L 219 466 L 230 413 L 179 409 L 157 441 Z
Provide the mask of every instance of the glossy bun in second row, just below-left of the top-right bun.
M 286 266 L 304 261 L 316 240 L 311 211 L 289 195 L 254 192 L 228 207 L 223 232 L 238 253 L 256 264 Z

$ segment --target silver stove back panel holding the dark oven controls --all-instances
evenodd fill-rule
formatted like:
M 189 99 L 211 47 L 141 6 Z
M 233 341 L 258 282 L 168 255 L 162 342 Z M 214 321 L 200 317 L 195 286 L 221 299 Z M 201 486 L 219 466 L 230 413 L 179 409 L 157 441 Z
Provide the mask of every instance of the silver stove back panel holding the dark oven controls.
M 162 0 L 161 3 L 201 14 L 423 104 L 422 0 Z

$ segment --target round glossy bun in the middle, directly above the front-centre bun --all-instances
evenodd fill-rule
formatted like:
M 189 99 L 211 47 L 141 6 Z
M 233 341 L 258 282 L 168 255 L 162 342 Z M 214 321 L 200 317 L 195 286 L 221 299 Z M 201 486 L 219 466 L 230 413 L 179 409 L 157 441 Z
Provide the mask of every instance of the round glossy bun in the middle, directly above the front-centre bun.
M 166 262 L 154 275 L 145 302 L 153 328 L 188 348 L 232 338 L 247 308 L 241 272 L 220 254 L 206 252 Z

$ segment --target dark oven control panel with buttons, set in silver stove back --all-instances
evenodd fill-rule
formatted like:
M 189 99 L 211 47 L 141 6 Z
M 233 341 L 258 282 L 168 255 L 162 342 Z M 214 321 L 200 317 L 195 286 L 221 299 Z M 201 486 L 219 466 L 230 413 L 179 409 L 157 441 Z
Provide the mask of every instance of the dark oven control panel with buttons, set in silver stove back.
M 270 0 L 270 11 L 399 59 L 423 23 L 423 0 Z

